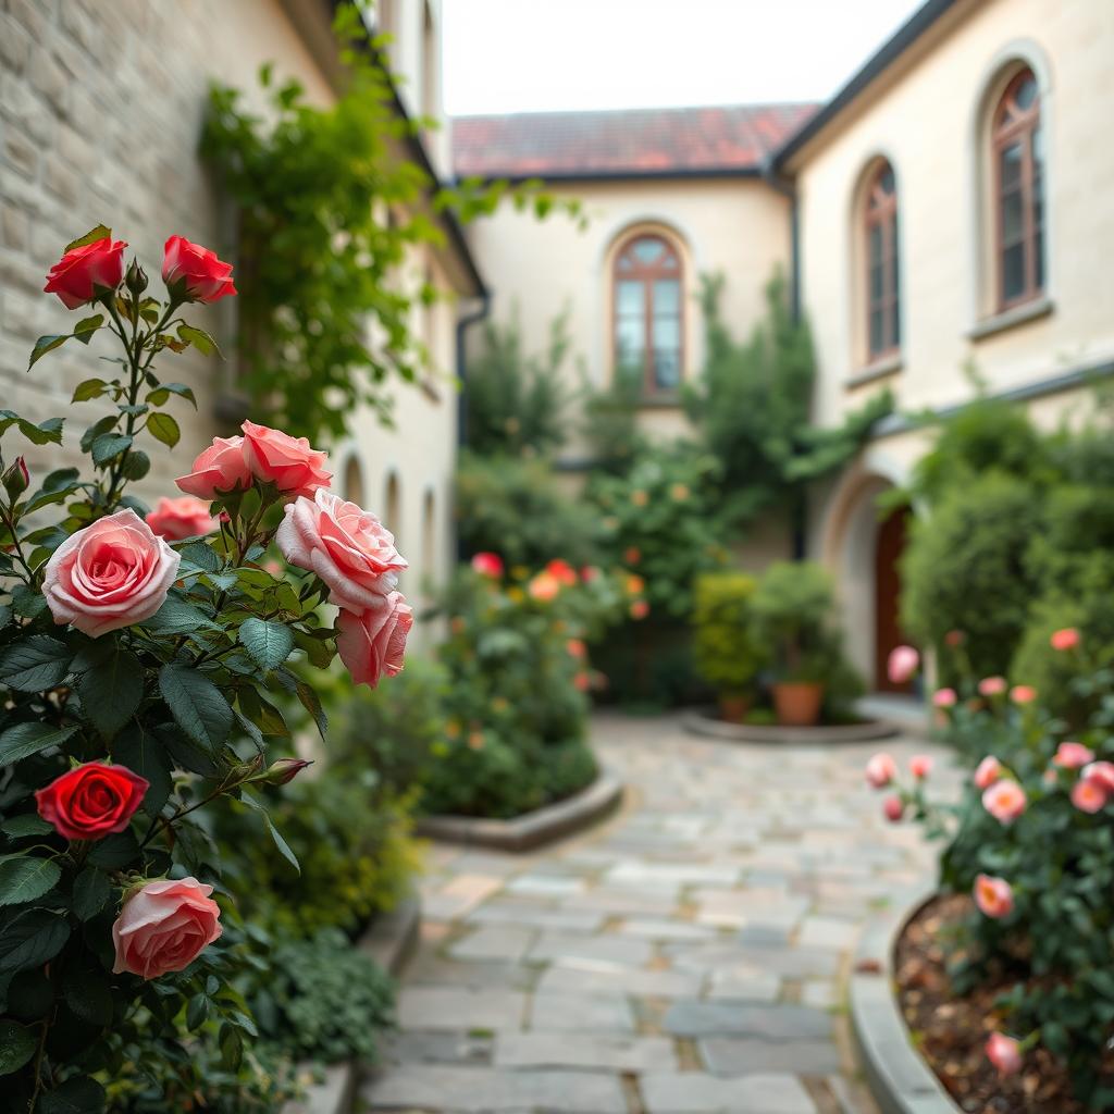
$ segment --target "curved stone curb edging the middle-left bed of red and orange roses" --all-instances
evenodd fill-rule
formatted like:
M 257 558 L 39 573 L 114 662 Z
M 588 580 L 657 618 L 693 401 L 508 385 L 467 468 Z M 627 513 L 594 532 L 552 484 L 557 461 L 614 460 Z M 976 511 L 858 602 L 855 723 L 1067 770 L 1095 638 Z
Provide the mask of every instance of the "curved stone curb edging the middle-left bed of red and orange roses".
M 570 836 L 602 820 L 623 799 L 623 782 L 604 771 L 587 789 L 573 797 L 527 812 L 514 820 L 481 820 L 472 817 L 424 817 L 417 834 L 427 839 L 483 847 L 496 851 L 532 851 Z

